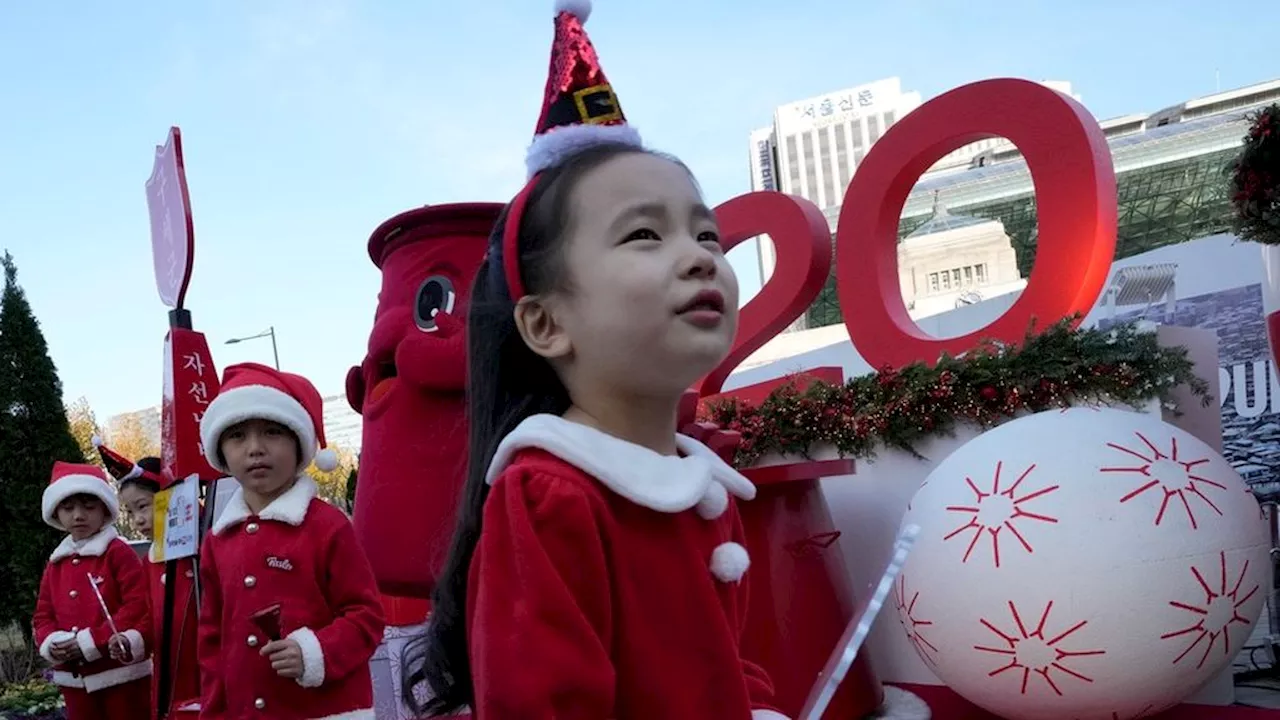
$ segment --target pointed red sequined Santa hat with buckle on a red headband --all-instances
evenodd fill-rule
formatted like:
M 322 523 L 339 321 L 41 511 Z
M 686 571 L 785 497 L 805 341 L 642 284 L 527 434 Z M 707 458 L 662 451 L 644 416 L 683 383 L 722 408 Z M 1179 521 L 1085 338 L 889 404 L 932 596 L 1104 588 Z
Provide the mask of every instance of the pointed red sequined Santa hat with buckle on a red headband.
M 582 27 L 590 14 L 591 0 L 556 0 L 556 40 L 543 94 L 543 111 L 534 128 L 534 141 L 525 154 L 529 181 L 511 201 L 502 238 L 503 273 L 512 300 L 525 295 L 516 238 L 538 173 L 595 145 L 644 146 L 640 133 L 627 124 L 618 96 Z

